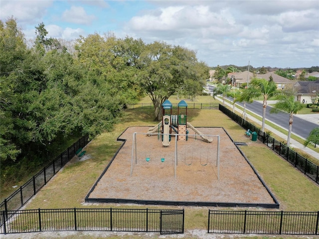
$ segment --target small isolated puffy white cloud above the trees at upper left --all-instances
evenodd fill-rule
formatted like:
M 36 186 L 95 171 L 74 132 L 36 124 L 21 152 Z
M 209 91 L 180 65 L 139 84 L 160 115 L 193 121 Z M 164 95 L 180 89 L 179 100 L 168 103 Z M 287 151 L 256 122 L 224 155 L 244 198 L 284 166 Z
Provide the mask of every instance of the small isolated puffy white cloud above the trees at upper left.
M 62 19 L 66 22 L 90 25 L 96 16 L 88 15 L 82 6 L 71 6 L 63 12 Z

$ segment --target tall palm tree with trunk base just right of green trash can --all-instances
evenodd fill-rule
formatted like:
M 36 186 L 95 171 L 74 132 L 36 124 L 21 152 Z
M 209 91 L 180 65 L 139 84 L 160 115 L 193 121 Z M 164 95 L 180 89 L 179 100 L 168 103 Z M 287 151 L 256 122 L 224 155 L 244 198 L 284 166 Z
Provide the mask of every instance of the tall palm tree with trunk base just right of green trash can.
M 265 129 L 266 107 L 268 98 L 278 94 L 276 83 L 265 79 L 253 79 L 248 89 L 245 90 L 250 99 L 263 96 L 263 120 L 261 130 Z

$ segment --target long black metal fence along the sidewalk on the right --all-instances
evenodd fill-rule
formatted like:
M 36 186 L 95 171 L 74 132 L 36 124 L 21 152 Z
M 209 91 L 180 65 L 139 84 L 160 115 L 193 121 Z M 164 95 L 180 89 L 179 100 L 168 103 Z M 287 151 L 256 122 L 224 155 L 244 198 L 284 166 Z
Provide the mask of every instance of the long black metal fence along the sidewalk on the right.
M 271 137 L 267 133 L 261 131 L 255 125 L 236 115 L 226 107 L 219 105 L 219 110 L 231 119 L 233 119 L 235 122 L 239 123 L 246 130 L 250 129 L 253 132 L 255 131 L 258 134 L 257 137 L 260 141 L 262 141 L 269 148 L 278 153 L 280 156 L 282 156 L 284 159 L 286 159 L 288 162 L 290 162 L 292 165 L 298 168 L 301 172 L 303 172 L 305 175 L 307 175 L 309 178 L 311 178 L 319 184 L 318 165 L 309 161 L 307 158 L 298 154 L 297 152 L 289 148 L 287 145 L 282 144 L 281 142 Z

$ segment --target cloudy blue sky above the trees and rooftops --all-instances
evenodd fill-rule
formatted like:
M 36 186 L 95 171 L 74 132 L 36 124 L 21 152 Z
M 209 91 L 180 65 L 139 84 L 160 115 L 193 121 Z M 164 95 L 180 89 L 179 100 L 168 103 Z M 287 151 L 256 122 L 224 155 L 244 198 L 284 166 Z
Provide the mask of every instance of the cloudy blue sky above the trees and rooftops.
M 318 66 L 318 12 L 319 0 L 0 0 L 26 39 L 40 22 L 67 41 L 112 32 L 187 47 L 208 66 Z

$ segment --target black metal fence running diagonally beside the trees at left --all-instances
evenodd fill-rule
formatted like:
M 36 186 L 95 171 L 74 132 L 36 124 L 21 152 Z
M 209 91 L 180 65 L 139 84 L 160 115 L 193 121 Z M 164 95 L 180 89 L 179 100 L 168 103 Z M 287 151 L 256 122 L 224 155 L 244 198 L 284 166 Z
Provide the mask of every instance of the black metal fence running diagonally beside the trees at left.
M 8 198 L 0 203 L 0 211 L 15 212 L 19 210 L 30 198 L 32 198 L 73 156 L 79 148 L 83 148 L 89 142 L 88 136 L 83 136 L 78 141 L 68 147 L 63 153 L 35 174 L 30 180 L 12 193 Z M 0 218 L 0 225 L 3 225 L 12 214 L 5 214 Z M 3 221 L 4 220 L 4 221 Z

